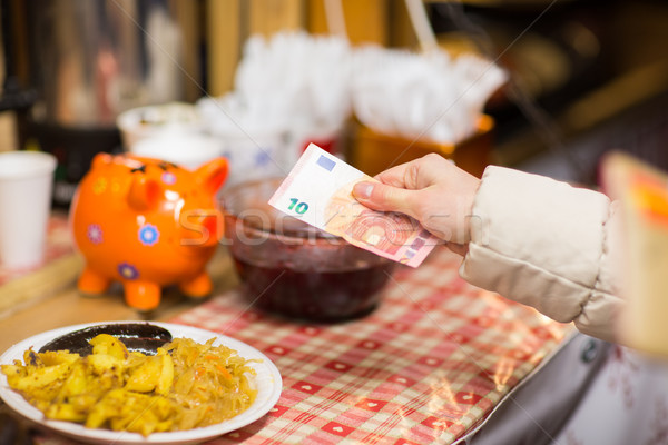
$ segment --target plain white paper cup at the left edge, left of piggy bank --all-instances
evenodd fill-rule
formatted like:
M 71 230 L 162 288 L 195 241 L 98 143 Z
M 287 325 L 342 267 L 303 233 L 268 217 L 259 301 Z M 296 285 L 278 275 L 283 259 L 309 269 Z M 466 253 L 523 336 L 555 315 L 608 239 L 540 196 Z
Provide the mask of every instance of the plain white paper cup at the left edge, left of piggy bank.
M 56 157 L 0 154 L 0 265 L 26 269 L 43 260 Z

